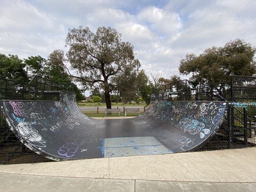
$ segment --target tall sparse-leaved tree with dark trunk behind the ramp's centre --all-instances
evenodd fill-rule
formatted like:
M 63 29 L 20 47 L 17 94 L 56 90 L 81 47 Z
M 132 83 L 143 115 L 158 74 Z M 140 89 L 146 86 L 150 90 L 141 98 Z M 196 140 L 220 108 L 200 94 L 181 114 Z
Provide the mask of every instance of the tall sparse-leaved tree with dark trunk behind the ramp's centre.
M 130 76 L 125 74 L 136 73 L 140 68 L 134 46 L 122 42 L 121 34 L 110 27 L 99 27 L 95 34 L 88 27 L 70 29 L 66 46 L 68 61 L 75 72 L 70 76 L 86 88 L 104 90 L 107 108 L 111 108 L 110 92 L 117 90 L 116 79 L 128 80 Z

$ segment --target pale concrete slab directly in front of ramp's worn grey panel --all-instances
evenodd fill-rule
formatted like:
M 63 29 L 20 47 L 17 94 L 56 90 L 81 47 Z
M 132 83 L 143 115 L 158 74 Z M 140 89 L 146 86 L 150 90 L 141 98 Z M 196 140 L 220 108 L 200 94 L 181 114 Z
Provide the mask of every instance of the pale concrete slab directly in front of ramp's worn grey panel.
M 170 154 L 109 158 L 110 178 L 199 181 Z

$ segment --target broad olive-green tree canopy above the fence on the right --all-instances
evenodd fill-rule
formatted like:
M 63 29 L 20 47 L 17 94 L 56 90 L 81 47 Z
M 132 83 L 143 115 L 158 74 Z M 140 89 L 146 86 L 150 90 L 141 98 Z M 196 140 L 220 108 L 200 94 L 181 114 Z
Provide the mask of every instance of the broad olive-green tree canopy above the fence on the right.
M 231 40 L 223 47 L 213 46 L 202 54 L 186 54 L 180 61 L 180 74 L 192 74 L 194 86 L 230 81 L 230 75 L 256 74 L 256 48 L 241 39 Z

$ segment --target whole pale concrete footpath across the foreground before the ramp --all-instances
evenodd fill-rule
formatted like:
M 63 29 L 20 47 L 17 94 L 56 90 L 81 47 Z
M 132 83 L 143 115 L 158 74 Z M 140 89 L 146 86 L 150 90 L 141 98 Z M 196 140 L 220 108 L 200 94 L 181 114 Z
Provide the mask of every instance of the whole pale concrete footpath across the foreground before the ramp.
M 255 192 L 256 148 L 0 165 L 0 191 Z

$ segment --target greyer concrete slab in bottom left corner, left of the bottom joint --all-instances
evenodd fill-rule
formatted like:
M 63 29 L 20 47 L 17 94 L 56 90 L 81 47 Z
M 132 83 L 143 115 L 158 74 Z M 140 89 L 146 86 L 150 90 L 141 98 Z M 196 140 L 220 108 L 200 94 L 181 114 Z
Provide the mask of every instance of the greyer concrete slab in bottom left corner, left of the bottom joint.
M 0 191 L 4 192 L 134 192 L 134 180 L 31 176 L 0 173 Z

